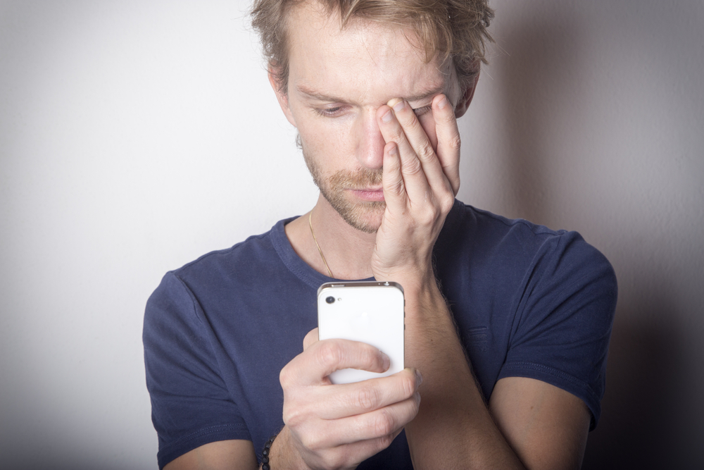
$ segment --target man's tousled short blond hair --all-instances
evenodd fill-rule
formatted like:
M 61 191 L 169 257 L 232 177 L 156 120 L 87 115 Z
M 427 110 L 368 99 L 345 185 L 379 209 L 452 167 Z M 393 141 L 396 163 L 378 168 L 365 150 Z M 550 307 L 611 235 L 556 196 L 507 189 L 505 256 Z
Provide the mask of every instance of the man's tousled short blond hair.
M 254 0 L 252 26 L 259 33 L 268 67 L 287 91 L 289 60 L 287 18 L 291 8 L 306 0 Z M 310 0 L 309 0 L 310 1 Z M 494 11 L 487 0 L 312 0 L 327 13 L 337 11 L 341 27 L 365 19 L 411 27 L 420 39 L 426 61 L 452 58 L 460 87 L 472 85 L 479 61 L 486 63 L 487 28 Z

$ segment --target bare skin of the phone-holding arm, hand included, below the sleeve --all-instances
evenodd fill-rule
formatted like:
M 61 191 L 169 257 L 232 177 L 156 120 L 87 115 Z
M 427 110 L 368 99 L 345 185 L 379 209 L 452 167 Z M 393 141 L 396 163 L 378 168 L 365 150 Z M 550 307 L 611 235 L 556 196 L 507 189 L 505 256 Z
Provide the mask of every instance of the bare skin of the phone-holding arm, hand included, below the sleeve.
M 383 372 L 389 359 L 375 347 L 346 340 L 318 341 L 312 330 L 304 351 L 282 369 L 284 423 L 270 451 L 272 469 L 354 469 L 388 447 L 418 410 L 420 378 L 405 369 L 393 376 L 332 385 L 332 371 L 353 367 Z M 249 440 L 197 447 L 165 470 L 256 469 Z

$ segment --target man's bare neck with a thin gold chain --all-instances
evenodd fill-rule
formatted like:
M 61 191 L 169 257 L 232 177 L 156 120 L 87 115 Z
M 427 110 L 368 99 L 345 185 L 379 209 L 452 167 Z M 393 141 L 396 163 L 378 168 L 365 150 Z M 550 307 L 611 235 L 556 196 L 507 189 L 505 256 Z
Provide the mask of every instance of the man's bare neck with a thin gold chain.
M 376 233 L 364 233 L 346 223 L 327 199 L 319 196 L 311 218 L 315 238 L 325 260 L 337 279 L 364 279 L 372 276 L 370 260 Z M 328 275 L 313 235 L 310 234 L 308 214 L 286 225 L 286 235 L 294 251 L 303 261 Z

